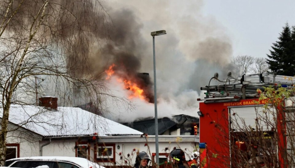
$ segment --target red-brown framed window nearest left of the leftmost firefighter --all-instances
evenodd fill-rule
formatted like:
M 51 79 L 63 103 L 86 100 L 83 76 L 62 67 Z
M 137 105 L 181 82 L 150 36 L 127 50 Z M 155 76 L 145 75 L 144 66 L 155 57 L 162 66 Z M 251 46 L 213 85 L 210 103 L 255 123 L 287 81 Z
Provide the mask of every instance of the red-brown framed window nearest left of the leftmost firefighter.
M 115 159 L 115 144 L 114 143 L 99 143 L 95 146 L 95 156 L 96 161 L 104 162 L 114 162 Z

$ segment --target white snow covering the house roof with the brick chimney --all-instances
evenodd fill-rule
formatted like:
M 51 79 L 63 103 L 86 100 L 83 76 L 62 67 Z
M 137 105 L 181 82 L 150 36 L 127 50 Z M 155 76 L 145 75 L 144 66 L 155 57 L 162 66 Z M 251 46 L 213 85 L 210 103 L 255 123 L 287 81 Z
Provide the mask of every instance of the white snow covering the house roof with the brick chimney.
M 3 108 L 0 109 L 3 114 Z M 9 121 L 42 136 L 142 135 L 135 129 L 76 107 L 57 111 L 33 105 L 11 105 Z

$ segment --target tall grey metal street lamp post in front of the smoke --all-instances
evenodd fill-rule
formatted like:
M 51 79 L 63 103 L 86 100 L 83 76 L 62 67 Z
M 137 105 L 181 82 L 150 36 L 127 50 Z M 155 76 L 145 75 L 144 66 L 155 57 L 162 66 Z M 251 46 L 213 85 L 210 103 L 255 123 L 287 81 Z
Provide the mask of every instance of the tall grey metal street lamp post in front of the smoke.
M 159 139 L 158 139 L 158 112 L 157 112 L 157 85 L 156 85 L 156 57 L 155 57 L 155 36 L 166 34 L 166 30 L 151 32 L 153 36 L 153 52 L 154 52 L 154 101 L 155 101 L 155 145 L 156 145 L 156 161 L 159 166 Z

